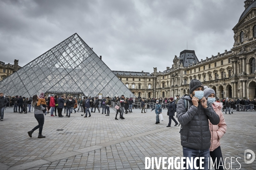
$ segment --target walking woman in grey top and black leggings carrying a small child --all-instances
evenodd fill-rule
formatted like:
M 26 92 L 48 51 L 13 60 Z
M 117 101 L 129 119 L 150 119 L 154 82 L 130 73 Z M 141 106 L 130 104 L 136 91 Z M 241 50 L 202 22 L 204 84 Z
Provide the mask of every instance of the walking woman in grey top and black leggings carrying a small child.
M 44 126 L 44 112 L 45 109 L 42 105 L 37 106 L 38 102 L 38 96 L 34 95 L 32 101 L 32 107 L 34 108 L 34 115 L 35 119 L 38 121 L 38 125 L 35 126 L 32 130 L 28 131 L 29 137 L 32 138 L 32 133 L 39 128 L 38 138 L 45 138 L 45 136 L 42 135 L 43 126 Z

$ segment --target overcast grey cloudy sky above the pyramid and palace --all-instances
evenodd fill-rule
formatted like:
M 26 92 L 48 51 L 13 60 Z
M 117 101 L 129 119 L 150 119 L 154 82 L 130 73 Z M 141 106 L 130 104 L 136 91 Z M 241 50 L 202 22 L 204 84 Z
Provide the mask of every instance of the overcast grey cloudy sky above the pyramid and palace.
M 233 47 L 244 0 L 0 0 L 0 60 L 24 66 L 77 33 L 117 71 L 171 67 Z

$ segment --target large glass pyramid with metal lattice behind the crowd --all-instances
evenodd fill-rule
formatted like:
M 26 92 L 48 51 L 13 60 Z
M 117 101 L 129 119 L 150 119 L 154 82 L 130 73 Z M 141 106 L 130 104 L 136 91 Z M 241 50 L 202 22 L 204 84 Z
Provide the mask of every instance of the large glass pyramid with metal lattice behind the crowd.
M 26 97 L 41 93 L 134 96 L 78 34 L 0 81 L 0 92 Z

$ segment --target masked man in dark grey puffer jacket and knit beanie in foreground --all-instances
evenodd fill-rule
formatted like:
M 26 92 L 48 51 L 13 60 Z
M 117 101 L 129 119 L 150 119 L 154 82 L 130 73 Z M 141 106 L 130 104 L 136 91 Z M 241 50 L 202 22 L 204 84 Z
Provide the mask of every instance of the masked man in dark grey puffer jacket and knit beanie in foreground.
M 177 104 L 177 118 L 180 122 L 180 139 L 183 146 L 183 157 L 189 157 L 194 162 L 196 157 L 204 157 L 202 167 L 208 169 L 209 147 L 211 133 L 209 121 L 218 125 L 219 116 L 210 102 L 204 97 L 204 86 L 197 79 L 189 83 L 190 95 L 184 95 Z M 197 167 L 199 161 L 197 161 Z M 186 167 L 186 166 L 185 166 Z

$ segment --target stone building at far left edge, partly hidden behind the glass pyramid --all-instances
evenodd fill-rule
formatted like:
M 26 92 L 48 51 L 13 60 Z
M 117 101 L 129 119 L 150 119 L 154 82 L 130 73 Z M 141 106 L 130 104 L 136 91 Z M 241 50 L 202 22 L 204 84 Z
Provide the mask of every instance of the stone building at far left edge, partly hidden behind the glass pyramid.
M 9 75 L 15 73 L 15 71 L 19 70 L 21 67 L 18 65 L 19 60 L 14 60 L 14 65 L 0 61 L 0 81 L 8 77 Z

